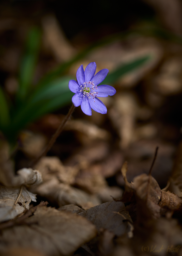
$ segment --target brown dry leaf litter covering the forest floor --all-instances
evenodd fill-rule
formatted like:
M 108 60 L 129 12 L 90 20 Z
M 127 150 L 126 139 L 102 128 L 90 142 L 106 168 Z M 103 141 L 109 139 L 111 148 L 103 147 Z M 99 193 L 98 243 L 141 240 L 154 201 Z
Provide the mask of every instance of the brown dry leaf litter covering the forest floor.
M 56 18 L 48 18 L 52 21 L 47 30 L 45 24 L 49 19 L 42 20 L 43 33 L 57 56 L 59 41 L 66 41 Z M 57 44 L 52 43 L 52 33 L 60 35 Z M 45 54 L 46 45 L 42 51 Z M 24 140 L 24 155 L 17 161 L 20 167 L 16 174 L 2 140 L 1 256 L 181 255 L 181 143 L 174 160 L 180 132 L 179 127 L 164 122 L 165 113 L 176 114 L 173 104 L 169 104 L 170 97 L 178 101 L 181 92 L 180 47 L 175 52 L 170 43 L 137 36 L 123 44 L 117 42 L 94 50 L 83 64 L 94 57 L 100 69 L 107 63 L 112 70 L 123 59 L 148 52 L 152 52 L 153 60 L 118 79 L 117 95 L 104 99 L 108 115 L 100 117 L 93 113 L 85 119 L 77 110 L 81 119 L 70 120 L 65 127 L 61 139 L 64 141 L 65 136 L 66 143 L 58 140 L 50 151 L 54 156 L 42 158 L 35 170 L 24 167 L 56 130 L 49 115 L 30 126 L 32 130 L 36 127 L 35 135 L 40 136 L 28 137 L 29 142 Z M 54 58 L 51 61 L 56 64 Z M 64 59 L 61 52 L 58 59 Z M 44 70 L 43 62 L 39 64 L 40 70 Z M 73 75 L 75 67 L 69 71 Z M 10 66 L 3 66 L 6 72 L 9 69 Z M 10 77 L 5 81 L 7 93 L 8 83 Z M 52 117 L 59 123 L 59 114 Z M 159 154 L 153 177 L 148 170 L 156 145 Z M 38 204 L 40 200 L 48 200 L 51 206 L 47 207 L 47 202 Z

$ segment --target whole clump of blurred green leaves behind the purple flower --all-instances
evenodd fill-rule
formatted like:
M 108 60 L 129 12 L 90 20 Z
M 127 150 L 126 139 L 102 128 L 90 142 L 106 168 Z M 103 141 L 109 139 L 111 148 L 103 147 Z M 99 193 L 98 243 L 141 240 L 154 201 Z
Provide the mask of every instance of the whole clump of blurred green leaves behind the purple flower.
M 116 38 L 113 37 L 112 40 Z M 25 54 L 20 65 L 19 89 L 15 101 L 11 102 L 0 87 L 0 130 L 11 143 L 16 141 L 19 131 L 28 123 L 71 102 L 73 93 L 70 92 L 68 83 L 70 79 L 75 78 L 65 75 L 66 70 L 92 49 L 111 41 L 106 39 L 94 43 L 70 61 L 49 72 L 36 86 L 32 86 L 40 40 L 41 31 L 38 28 L 32 28 L 28 34 Z M 109 74 L 104 83 L 110 85 L 115 83 L 119 77 L 143 65 L 148 59 L 149 56 L 145 56 L 123 64 Z

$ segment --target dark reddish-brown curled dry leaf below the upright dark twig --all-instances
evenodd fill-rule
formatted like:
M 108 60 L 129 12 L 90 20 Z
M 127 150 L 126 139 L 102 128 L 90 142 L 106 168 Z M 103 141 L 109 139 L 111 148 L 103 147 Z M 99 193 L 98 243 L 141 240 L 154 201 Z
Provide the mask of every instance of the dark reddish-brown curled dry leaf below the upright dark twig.
M 181 210 L 182 199 L 175 193 L 161 191 L 159 184 L 151 175 L 143 173 L 136 176 L 133 183 L 128 183 L 127 162 L 123 164 L 121 173 L 125 181 L 125 191 L 122 198 L 115 199 L 115 201 L 132 202 L 127 209 L 133 219 L 136 219 L 136 214 L 139 222 L 159 218 L 164 213 L 161 211 L 161 207 L 168 211 Z

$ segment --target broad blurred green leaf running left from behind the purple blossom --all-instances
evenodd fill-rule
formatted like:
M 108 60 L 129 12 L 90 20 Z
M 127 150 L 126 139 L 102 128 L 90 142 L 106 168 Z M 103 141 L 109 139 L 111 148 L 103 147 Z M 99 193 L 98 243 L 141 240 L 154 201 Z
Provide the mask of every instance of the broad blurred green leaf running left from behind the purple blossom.
M 14 113 L 12 126 L 17 132 L 29 122 L 34 121 L 43 114 L 54 111 L 71 102 L 73 92 L 68 87 L 70 76 L 59 78 L 46 85 L 45 88 L 38 88 L 27 101 Z

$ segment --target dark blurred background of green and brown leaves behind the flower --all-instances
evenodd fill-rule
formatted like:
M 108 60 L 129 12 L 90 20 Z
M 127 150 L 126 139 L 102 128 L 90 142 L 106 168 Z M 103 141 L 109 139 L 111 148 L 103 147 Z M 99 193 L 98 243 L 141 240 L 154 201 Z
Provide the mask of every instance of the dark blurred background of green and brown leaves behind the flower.
M 76 108 L 48 155 L 82 163 L 74 186 L 93 192 L 122 187 L 125 160 L 129 182 L 148 173 L 159 146 L 152 175 L 166 186 L 181 140 L 181 0 L 1 1 L 0 14 L 1 140 L 18 141 L 16 170 L 67 114 L 78 67 L 95 61 L 117 91 L 101 99 L 108 113 Z

